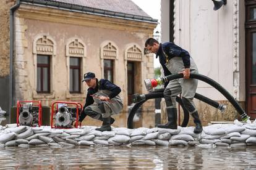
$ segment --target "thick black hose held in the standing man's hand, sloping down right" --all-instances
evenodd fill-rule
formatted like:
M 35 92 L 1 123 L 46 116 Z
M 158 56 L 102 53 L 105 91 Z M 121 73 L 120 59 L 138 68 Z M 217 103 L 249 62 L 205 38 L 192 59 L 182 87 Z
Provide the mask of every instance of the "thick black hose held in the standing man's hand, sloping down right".
M 182 73 L 177 74 L 177 75 L 166 76 L 164 78 L 161 78 L 161 81 L 167 82 L 167 81 L 171 81 L 171 80 L 179 79 L 179 78 L 183 78 L 183 74 Z M 246 119 L 250 118 L 245 113 L 245 111 L 242 109 L 242 107 L 236 102 L 234 97 L 231 94 L 229 94 L 229 92 L 226 91 L 226 89 L 224 89 L 220 84 L 216 83 L 216 81 L 214 81 L 211 78 L 208 78 L 207 76 L 200 75 L 200 74 L 194 74 L 194 73 L 190 73 L 190 78 L 199 79 L 199 80 L 201 80 L 201 81 L 203 81 L 205 83 L 208 83 L 211 86 L 215 87 L 215 89 L 217 89 L 219 92 L 221 92 L 221 94 L 223 94 L 224 97 L 226 97 L 226 99 L 229 100 L 229 102 L 234 106 L 234 108 L 236 108 L 236 110 L 239 113 L 239 115 L 241 116 L 242 120 L 246 120 Z

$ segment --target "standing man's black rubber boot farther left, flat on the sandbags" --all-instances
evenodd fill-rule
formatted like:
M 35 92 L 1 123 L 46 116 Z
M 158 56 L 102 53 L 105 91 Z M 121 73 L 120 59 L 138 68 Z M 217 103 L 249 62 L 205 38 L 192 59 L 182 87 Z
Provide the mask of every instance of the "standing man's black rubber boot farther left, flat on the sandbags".
M 177 109 L 176 108 L 167 108 L 168 123 L 158 124 L 157 127 L 165 129 L 177 129 Z

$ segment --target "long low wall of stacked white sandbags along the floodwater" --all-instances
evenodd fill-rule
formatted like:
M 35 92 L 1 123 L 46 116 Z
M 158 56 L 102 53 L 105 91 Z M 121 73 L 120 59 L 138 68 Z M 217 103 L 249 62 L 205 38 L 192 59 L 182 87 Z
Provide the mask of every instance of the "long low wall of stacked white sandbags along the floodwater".
M 112 131 L 95 131 L 95 126 L 80 129 L 51 129 L 49 126 L 28 127 L 15 124 L 0 126 L 0 147 L 75 147 L 92 145 L 162 145 L 211 147 L 246 147 L 256 145 L 256 121 L 242 124 L 214 124 L 195 134 L 194 127 L 178 129 L 113 127 Z

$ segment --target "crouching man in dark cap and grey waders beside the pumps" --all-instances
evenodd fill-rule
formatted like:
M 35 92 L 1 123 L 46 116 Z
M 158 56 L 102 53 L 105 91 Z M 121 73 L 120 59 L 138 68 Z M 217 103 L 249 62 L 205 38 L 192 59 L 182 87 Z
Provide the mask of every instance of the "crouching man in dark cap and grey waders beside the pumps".
M 79 124 L 83 121 L 85 116 L 90 116 L 94 119 L 103 121 L 98 131 L 111 131 L 111 124 L 114 119 L 111 115 L 118 114 L 123 108 L 122 99 L 119 96 L 121 92 L 120 87 L 108 81 L 108 79 L 95 78 L 95 74 L 88 72 L 83 75 L 82 82 L 87 84 L 88 91 L 83 106 L 82 113 L 79 118 Z

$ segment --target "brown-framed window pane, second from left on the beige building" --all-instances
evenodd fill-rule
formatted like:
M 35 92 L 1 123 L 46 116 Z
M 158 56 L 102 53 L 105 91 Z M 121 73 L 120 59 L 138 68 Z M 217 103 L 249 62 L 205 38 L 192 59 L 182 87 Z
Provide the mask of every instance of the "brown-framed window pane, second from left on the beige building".
M 81 66 L 79 57 L 69 58 L 69 92 L 70 93 L 80 93 L 81 92 Z

